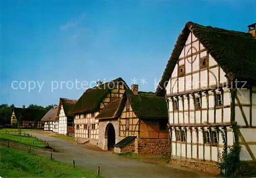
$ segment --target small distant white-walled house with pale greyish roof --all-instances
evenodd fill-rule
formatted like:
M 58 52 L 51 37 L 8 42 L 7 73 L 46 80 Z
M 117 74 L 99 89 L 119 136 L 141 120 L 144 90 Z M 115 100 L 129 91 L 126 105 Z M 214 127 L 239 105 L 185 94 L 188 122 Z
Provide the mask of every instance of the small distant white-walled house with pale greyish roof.
M 58 124 L 56 124 L 58 123 L 57 111 L 58 111 L 58 107 L 55 106 L 51 108 L 46 113 L 46 115 L 44 115 L 44 117 L 41 118 L 41 121 L 44 122 L 44 131 L 52 131 L 52 132 L 58 133 Z

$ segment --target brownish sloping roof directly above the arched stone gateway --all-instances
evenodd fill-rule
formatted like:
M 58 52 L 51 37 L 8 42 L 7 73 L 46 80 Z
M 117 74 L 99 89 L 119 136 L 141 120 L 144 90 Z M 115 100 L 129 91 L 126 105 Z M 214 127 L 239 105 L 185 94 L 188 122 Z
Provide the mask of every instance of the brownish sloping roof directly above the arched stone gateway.
M 127 97 L 117 99 L 105 106 L 105 108 L 95 117 L 95 119 L 115 119 L 118 118 L 125 106 Z

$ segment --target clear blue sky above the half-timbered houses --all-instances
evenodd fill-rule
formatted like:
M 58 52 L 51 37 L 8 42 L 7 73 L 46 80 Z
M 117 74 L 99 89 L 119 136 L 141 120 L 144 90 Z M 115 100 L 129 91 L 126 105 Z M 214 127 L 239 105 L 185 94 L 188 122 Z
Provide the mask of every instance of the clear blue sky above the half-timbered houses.
M 135 78 L 140 91 L 155 92 L 187 21 L 243 32 L 256 22 L 255 0 L 3 0 L 0 8 L 0 104 L 16 107 L 77 99 L 84 89 L 76 80 L 86 88 L 118 77 L 131 86 Z M 33 81 L 41 90 L 29 91 Z

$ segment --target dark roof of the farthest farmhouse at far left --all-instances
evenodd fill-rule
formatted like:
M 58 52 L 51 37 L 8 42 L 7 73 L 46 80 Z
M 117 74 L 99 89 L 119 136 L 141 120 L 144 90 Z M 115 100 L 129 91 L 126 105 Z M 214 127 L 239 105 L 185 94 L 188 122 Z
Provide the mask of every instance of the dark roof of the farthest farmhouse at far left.
M 22 120 L 29 120 L 29 121 L 38 121 L 40 120 L 45 114 L 46 110 L 39 110 L 39 109 L 28 109 L 28 108 L 13 108 L 14 114 L 16 119 L 22 117 Z

